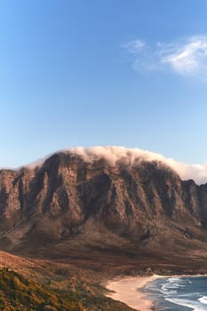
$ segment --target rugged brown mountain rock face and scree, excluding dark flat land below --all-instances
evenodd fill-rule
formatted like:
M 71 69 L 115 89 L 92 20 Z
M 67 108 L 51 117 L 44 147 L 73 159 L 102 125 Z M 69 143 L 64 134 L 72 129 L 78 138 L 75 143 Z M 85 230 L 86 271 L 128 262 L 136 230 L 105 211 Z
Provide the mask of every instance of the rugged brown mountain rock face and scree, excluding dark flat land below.
M 0 245 L 134 245 L 207 241 L 207 185 L 182 181 L 163 163 L 84 162 L 59 153 L 36 169 L 0 171 Z M 173 236 L 172 236 L 173 235 Z M 98 241 L 98 242 L 97 242 Z

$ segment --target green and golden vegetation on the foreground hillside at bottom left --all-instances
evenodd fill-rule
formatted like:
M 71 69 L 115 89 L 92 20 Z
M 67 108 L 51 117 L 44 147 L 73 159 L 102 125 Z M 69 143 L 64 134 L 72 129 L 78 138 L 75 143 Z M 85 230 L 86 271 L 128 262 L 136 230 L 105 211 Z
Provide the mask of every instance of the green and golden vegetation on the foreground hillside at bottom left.
M 55 291 L 10 269 L 0 270 L 0 310 L 3 311 L 130 311 L 124 304 L 80 288 Z

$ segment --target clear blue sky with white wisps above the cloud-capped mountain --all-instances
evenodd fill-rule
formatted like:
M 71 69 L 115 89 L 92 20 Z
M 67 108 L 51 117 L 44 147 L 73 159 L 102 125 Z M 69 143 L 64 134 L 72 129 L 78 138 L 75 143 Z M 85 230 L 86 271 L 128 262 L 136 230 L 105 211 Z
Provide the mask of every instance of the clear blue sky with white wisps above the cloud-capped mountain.
M 207 162 L 206 0 L 0 0 L 0 167 L 77 146 Z

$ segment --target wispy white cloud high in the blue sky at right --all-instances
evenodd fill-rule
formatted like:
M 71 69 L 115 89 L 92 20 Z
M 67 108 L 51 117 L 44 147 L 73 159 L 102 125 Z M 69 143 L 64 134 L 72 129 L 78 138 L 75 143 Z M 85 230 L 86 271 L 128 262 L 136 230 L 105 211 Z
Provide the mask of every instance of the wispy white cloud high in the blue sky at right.
M 207 80 L 207 36 L 192 36 L 182 42 L 147 44 L 133 40 L 124 44 L 135 70 L 171 70 L 180 76 Z

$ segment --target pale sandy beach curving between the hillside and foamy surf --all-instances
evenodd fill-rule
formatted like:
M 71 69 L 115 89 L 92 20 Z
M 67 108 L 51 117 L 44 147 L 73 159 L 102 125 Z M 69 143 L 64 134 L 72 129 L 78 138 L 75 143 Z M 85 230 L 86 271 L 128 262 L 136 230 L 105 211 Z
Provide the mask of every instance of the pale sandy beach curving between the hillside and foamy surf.
M 113 292 L 107 294 L 107 297 L 122 301 L 129 307 L 139 311 L 151 311 L 153 307 L 152 301 L 147 299 L 147 296 L 139 290 L 146 286 L 147 283 L 155 281 L 155 279 L 160 277 L 162 276 L 133 276 L 121 277 L 110 281 L 107 283 L 106 288 Z

